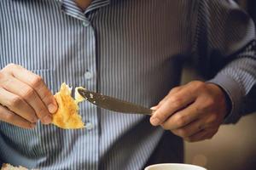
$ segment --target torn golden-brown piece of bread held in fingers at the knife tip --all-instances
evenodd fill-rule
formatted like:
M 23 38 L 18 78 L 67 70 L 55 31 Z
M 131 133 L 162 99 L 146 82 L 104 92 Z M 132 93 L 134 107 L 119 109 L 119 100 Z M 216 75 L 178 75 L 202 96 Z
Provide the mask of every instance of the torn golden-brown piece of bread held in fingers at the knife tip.
M 81 87 L 79 87 L 81 88 Z M 53 114 L 53 124 L 66 129 L 84 128 L 84 122 L 79 115 L 79 102 L 84 98 L 79 95 L 78 88 L 75 89 L 75 99 L 71 96 L 71 88 L 64 82 L 61 89 L 55 94 L 58 103 L 58 111 Z

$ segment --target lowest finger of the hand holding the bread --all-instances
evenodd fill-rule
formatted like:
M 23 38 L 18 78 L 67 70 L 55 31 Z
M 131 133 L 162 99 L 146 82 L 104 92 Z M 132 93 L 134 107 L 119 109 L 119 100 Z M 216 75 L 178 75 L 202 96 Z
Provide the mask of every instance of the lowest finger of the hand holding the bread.
M 3 107 L 3 105 L 0 105 L 0 120 L 23 128 L 33 128 L 36 126 L 36 123 L 26 121 L 26 119 L 9 111 L 9 109 Z

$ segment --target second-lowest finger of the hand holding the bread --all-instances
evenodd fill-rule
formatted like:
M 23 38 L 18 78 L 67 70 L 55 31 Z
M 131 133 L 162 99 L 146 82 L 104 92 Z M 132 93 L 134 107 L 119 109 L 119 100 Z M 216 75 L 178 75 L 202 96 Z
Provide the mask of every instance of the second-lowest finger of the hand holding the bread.
M 0 103 L 9 108 L 10 111 L 15 112 L 29 122 L 37 122 L 38 116 L 30 105 L 27 105 L 24 99 L 18 95 L 12 94 L 3 88 L 0 88 Z

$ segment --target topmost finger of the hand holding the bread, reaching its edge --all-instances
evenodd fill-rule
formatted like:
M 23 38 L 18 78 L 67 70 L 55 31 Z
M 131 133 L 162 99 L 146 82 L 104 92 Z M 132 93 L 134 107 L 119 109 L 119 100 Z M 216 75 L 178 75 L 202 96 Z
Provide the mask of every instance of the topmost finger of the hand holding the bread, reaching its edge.
M 50 113 L 55 113 L 55 111 L 57 111 L 57 104 L 55 98 L 46 87 L 42 77 L 39 77 L 31 71 L 27 71 L 20 65 L 11 65 L 10 67 L 12 67 L 11 72 L 14 77 L 35 89 L 40 99 L 42 99 L 42 101 L 44 102 L 44 105 L 47 106 Z

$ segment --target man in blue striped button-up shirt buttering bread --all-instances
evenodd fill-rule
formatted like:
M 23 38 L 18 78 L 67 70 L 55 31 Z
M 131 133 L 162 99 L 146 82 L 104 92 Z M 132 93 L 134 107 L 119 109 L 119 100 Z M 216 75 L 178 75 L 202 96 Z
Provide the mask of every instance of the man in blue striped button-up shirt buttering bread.
M 3 0 L 0 13 L 3 162 L 112 170 L 182 162 L 182 139 L 210 139 L 252 108 L 254 26 L 232 1 Z M 178 86 L 185 60 L 208 82 Z M 47 125 L 61 82 L 155 105 L 154 115 L 84 102 L 92 128 Z

